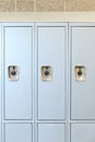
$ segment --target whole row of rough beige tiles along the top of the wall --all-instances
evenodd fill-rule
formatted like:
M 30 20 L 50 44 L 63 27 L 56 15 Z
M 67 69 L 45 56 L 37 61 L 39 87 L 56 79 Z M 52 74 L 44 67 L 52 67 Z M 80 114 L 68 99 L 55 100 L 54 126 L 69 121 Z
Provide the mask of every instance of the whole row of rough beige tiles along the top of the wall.
M 0 12 L 95 11 L 95 0 L 0 0 Z

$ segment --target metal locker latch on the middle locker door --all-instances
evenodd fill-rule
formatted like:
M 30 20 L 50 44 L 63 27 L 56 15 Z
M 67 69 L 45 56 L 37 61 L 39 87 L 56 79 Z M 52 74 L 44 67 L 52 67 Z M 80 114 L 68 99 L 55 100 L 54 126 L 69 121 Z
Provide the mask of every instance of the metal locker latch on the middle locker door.
M 41 71 L 41 80 L 43 81 L 51 81 L 52 80 L 52 68 L 50 66 L 43 66 L 40 68 Z

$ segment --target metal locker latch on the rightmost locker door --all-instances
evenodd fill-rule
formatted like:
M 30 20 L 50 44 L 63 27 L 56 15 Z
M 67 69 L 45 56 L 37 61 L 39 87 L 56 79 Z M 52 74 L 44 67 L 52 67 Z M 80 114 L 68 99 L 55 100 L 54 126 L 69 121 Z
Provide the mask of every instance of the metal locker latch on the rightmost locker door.
M 85 81 L 86 79 L 86 68 L 84 66 L 75 66 L 74 74 L 76 81 Z

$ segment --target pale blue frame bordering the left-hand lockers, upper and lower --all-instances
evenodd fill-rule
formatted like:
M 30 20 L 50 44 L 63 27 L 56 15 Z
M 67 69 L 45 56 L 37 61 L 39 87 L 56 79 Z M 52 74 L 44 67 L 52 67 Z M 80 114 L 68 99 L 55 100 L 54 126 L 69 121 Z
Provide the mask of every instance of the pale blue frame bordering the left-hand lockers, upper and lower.
M 11 23 L 2 23 L 1 24 L 1 42 L 2 42 L 2 45 L 1 45 L 1 52 L 2 52 L 2 57 L 1 57 L 1 63 L 2 63 L 2 70 L 1 70 L 1 74 L 2 74 L 2 83 L 1 83 L 1 87 L 2 87 L 2 91 L 1 91 L 1 96 L 2 96 L 2 118 L 1 118 L 1 121 L 2 121 L 2 133 L 1 133 L 1 139 L 2 139 L 2 142 L 5 142 L 5 123 L 31 123 L 33 127 L 32 127 L 32 130 L 33 130 L 33 134 L 32 134 L 32 139 L 33 139 L 33 142 L 34 142 L 34 123 L 35 123 L 35 120 L 34 120 L 34 116 L 35 116 L 35 109 L 34 109 L 34 103 L 35 103 L 35 91 L 34 91 L 34 82 L 35 82 L 35 79 L 34 79 L 34 75 L 33 75 L 33 88 L 32 88 L 32 92 L 33 92 L 33 96 L 32 96 L 32 102 L 33 102 L 33 119 L 32 120 L 20 120 L 20 119 L 14 119 L 14 120 L 8 120 L 8 119 L 4 119 L 4 49 L 3 49 L 3 27 L 33 27 L 33 43 L 32 43 L 32 58 L 33 58 L 33 62 L 34 62 L 34 23 L 27 23 L 27 22 L 11 22 Z M 33 68 L 33 74 L 34 74 L 34 63 L 32 66 Z

